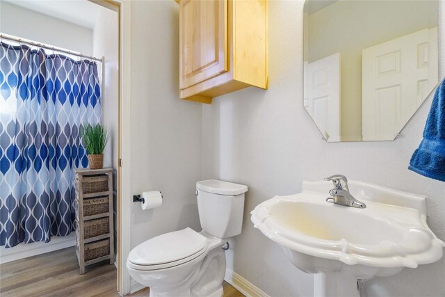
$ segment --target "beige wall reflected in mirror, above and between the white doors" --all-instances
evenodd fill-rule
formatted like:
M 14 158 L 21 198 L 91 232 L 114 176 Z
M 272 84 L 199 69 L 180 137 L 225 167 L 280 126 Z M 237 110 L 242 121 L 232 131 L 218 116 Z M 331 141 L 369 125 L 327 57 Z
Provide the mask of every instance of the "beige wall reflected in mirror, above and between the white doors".
M 309 15 L 309 63 L 341 54 L 343 141 L 362 136 L 362 50 L 435 26 L 437 1 L 337 1 Z

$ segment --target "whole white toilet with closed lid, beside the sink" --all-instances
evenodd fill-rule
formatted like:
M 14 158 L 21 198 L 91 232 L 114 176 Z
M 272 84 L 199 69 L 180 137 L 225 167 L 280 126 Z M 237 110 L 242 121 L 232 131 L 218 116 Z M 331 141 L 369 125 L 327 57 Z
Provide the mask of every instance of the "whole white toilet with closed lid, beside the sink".
M 241 233 L 247 186 L 216 179 L 196 183 L 201 232 L 191 228 L 149 239 L 131 250 L 131 278 L 150 297 L 223 296 L 224 244 Z

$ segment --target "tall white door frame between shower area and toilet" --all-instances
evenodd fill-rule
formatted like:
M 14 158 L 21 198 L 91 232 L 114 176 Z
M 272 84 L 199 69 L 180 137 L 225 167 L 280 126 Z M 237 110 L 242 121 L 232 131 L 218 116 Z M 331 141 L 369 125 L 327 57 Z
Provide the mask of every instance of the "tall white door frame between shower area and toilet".
M 130 293 L 130 275 L 125 268 L 130 252 L 131 197 L 130 191 L 130 79 L 131 79 L 131 0 L 88 0 L 118 13 L 118 277 L 120 296 Z M 122 197 L 128 198 L 122 202 Z M 122 232 L 125 230 L 127 232 Z

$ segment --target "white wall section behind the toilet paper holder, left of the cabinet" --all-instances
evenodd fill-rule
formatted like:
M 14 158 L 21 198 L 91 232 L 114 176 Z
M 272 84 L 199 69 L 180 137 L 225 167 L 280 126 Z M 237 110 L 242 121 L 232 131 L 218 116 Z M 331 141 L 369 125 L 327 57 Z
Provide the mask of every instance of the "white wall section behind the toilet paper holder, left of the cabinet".
M 184 227 L 200 230 L 195 182 L 201 179 L 202 108 L 179 99 L 179 6 L 175 1 L 131 3 L 129 104 L 132 194 L 163 193 L 163 205 L 156 209 L 143 211 L 131 202 L 131 248 Z

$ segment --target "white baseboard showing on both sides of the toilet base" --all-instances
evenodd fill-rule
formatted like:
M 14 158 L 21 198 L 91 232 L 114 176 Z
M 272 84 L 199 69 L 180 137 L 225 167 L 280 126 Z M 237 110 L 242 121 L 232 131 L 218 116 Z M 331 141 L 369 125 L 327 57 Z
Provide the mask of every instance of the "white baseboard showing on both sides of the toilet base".
M 249 282 L 245 278 L 243 278 L 238 273 L 226 269 L 225 271 L 225 277 L 224 280 L 232 285 L 235 289 L 241 292 L 244 296 L 247 297 L 269 297 L 268 294 L 264 293 L 264 291 L 261 291 L 257 286 L 252 284 L 252 282 Z M 136 293 L 137 291 L 140 291 L 144 289 L 145 286 L 143 284 L 140 284 L 136 282 L 136 280 L 133 280 L 131 278 L 130 281 L 130 294 Z

